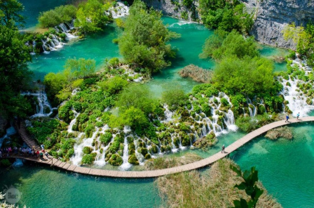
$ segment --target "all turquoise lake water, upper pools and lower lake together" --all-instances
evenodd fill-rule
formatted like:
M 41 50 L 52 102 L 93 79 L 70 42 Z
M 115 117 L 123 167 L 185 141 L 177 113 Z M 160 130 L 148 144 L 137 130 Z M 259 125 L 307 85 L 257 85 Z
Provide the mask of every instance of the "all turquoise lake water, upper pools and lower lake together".
M 35 1 L 23 0 L 28 17 L 25 27 L 34 27 L 39 12 L 64 4 L 65 0 Z M 178 71 L 188 64 L 213 69 L 213 60 L 199 59 L 198 54 L 206 38 L 213 34 L 203 25 L 187 23 L 170 17 L 163 17 L 169 29 L 181 34 L 181 38 L 170 43 L 178 49 L 171 67 L 153 75 L 147 83 L 152 92 L 159 96 L 169 84 L 176 84 L 186 92 L 197 83 L 192 79 L 181 78 Z M 71 41 L 59 51 L 33 56 L 29 67 L 34 71 L 34 79 L 43 79 L 49 72 L 63 70 L 68 58 L 94 58 L 100 69 L 105 58 L 121 57 L 112 39 L 122 30 L 114 24 L 106 27 L 103 33 L 87 36 L 84 40 Z M 263 56 L 284 56 L 286 50 L 262 46 Z M 275 63 L 275 70 L 285 70 L 285 63 Z M 242 169 L 256 166 L 259 178 L 270 194 L 278 199 L 283 207 L 312 207 L 314 204 L 314 124 L 294 124 L 295 138 L 292 141 L 279 139 L 270 141 L 263 136 L 255 138 L 231 154 Z M 175 156 L 194 152 L 203 157 L 213 155 L 220 147 L 230 145 L 240 139 L 243 133 L 230 133 L 218 138 L 219 142 L 208 151 L 181 151 Z M 14 185 L 22 192 L 19 205 L 29 207 L 156 207 L 161 203 L 154 179 L 116 179 L 85 176 L 65 172 L 57 168 L 34 163 L 11 169 L 0 168 L 0 191 Z

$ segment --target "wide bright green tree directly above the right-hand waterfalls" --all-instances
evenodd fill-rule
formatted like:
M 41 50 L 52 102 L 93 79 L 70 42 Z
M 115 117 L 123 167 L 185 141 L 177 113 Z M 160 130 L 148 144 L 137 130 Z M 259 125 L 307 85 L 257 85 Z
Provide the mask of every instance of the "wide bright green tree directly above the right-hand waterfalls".
M 254 96 L 273 90 L 273 62 L 264 57 L 224 57 L 214 70 L 214 85 L 228 95 Z

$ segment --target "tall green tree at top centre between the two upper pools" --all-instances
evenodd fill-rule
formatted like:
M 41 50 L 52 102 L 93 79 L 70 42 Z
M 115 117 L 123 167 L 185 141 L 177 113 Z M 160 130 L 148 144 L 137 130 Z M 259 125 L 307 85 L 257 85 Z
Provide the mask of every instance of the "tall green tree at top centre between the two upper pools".
M 145 3 L 136 0 L 124 22 L 124 32 L 118 39 L 120 53 L 125 61 L 157 72 L 171 63 L 166 57 L 175 52 L 167 42 L 178 34 L 169 31 L 161 21 L 161 13 L 146 9 Z

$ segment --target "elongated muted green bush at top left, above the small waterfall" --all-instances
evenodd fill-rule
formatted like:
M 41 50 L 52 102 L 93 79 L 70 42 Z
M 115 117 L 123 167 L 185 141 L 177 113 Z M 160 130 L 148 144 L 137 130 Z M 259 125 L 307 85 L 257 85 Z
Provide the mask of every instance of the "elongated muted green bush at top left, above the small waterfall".
M 38 17 L 40 27 L 49 28 L 61 23 L 71 22 L 76 17 L 76 7 L 73 5 L 61 5 L 46 12 L 41 12 Z

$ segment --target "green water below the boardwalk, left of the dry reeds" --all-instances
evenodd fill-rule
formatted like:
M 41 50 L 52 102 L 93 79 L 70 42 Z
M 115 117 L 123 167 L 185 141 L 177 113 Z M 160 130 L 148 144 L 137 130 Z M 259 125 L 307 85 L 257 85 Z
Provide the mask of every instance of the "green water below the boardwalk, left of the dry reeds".
M 2 172 L 2 173 L 1 173 Z M 153 179 L 100 178 L 59 171 L 31 163 L 0 169 L 0 191 L 14 185 L 27 207 L 156 207 Z

